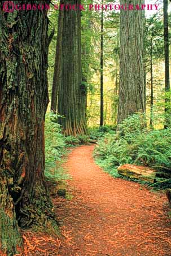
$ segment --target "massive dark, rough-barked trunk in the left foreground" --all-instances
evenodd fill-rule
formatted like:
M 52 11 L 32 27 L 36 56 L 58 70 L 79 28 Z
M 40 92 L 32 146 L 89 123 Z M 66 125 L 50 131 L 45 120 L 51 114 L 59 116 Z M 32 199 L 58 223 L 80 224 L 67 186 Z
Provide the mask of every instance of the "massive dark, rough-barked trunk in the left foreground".
M 44 123 L 49 102 L 47 11 L 7 13 L 2 6 L 3 1 L 0 3 L 0 254 L 14 255 L 16 248 L 22 246 L 18 225 L 46 227 L 51 232 L 58 232 L 58 226 L 44 177 Z

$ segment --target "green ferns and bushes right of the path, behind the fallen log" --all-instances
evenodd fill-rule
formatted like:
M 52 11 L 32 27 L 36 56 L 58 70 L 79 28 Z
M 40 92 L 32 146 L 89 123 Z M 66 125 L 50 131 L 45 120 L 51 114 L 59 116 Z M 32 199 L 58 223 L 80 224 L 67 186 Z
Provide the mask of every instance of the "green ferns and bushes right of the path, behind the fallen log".
M 171 130 L 148 131 L 143 115 L 129 117 L 119 125 L 118 132 L 100 138 L 94 156 L 112 176 L 120 177 L 117 167 L 122 164 L 143 165 L 163 176 L 156 178 L 154 186 L 171 186 Z

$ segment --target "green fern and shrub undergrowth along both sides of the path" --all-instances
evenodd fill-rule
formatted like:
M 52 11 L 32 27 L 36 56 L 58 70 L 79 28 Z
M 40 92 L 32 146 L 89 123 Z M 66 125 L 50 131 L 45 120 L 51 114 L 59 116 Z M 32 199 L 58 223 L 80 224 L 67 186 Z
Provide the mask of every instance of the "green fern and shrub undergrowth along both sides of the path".
M 62 181 L 69 178 L 61 167 L 68 147 L 98 140 L 94 151 L 95 160 L 112 176 L 121 177 L 117 168 L 122 164 L 143 165 L 162 173 L 162 177 L 159 175 L 153 186 L 156 188 L 171 186 L 170 129 L 148 131 L 146 117 L 133 115 L 119 125 L 119 131 L 116 131 L 116 127 L 104 126 L 90 128 L 89 136 L 65 137 L 56 121 L 54 114 L 46 115 L 45 176 L 47 180 Z

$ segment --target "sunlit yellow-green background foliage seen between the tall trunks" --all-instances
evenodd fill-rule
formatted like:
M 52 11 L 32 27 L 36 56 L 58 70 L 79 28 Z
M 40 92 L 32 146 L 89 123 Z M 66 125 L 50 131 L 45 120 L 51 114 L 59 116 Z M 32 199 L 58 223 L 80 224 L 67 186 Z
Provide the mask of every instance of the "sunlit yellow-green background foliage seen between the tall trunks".
M 108 4 L 110 1 L 105 1 Z M 155 3 L 155 2 L 154 2 Z M 84 2 L 89 5 L 90 2 Z M 100 3 L 102 4 L 102 3 Z M 153 124 L 156 128 L 163 128 L 164 122 L 164 24 L 163 1 L 157 1 L 159 11 L 146 10 L 146 23 L 144 23 L 144 77 L 146 77 L 146 115 L 150 123 L 150 109 L 152 106 Z M 49 14 L 51 27 L 58 21 L 58 11 Z M 170 11 L 168 16 L 170 26 Z M 82 70 L 86 76 L 87 88 L 87 124 L 90 127 L 100 124 L 100 54 L 103 40 L 103 97 L 104 97 L 104 125 L 117 124 L 117 107 L 119 102 L 119 53 L 120 53 L 120 12 L 81 12 L 81 45 Z M 126 29 L 126 28 L 125 28 Z M 57 26 L 49 50 L 49 92 L 51 96 L 55 48 L 57 39 Z M 103 36 L 103 38 L 102 38 Z M 85 49 L 86 47 L 86 49 Z M 169 44 L 170 47 L 170 44 Z M 85 54 L 86 53 L 86 54 Z M 169 55 L 170 58 L 170 55 Z M 51 97 L 50 97 L 51 98 Z M 151 104 L 152 103 L 152 104 Z

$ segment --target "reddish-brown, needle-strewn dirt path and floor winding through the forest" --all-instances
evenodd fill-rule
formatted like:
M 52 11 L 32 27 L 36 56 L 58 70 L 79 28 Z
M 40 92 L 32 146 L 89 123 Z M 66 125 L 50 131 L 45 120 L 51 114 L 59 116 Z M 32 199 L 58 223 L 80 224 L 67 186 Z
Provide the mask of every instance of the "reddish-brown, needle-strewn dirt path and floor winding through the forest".
M 54 198 L 62 236 L 24 232 L 23 255 L 170 256 L 165 194 L 109 176 L 94 163 L 93 150 L 94 145 L 76 147 L 63 165 L 72 179 L 71 198 Z

